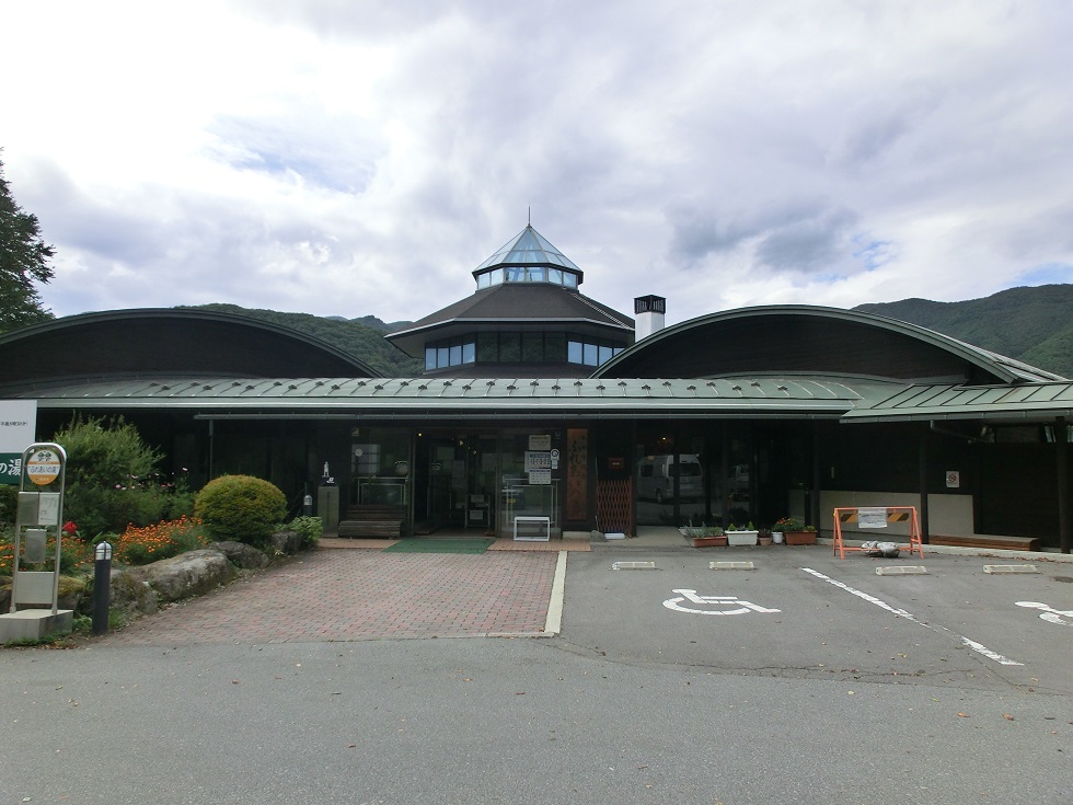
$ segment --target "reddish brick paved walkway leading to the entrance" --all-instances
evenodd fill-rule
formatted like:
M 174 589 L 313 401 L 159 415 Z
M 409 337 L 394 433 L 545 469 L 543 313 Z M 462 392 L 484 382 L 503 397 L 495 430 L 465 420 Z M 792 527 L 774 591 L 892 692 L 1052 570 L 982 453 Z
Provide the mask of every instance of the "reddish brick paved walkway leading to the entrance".
M 105 645 L 538 635 L 557 553 L 319 550 L 142 618 Z

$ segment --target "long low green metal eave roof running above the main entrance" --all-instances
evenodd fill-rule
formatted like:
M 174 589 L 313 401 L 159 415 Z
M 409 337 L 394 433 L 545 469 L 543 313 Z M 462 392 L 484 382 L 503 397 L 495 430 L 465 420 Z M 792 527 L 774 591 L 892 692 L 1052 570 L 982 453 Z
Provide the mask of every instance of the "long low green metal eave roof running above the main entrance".
M 845 378 L 191 378 L 85 381 L 25 389 L 42 409 L 184 409 L 204 417 L 838 418 L 875 398 Z M 889 388 L 889 387 L 886 387 Z

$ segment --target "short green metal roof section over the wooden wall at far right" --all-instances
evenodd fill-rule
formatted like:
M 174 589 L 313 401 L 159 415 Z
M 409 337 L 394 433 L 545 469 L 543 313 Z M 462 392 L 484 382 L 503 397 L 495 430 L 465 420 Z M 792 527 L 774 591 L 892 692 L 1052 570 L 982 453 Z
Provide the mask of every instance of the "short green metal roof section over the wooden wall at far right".
M 1073 417 L 1073 382 L 1020 386 L 910 386 L 855 407 L 843 422 Z

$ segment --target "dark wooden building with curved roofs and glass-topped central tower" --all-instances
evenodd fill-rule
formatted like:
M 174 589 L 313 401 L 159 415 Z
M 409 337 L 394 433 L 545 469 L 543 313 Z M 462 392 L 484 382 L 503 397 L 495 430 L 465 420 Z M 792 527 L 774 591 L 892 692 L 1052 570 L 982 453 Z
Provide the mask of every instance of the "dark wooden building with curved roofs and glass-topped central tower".
M 787 515 L 829 529 L 834 507 L 912 505 L 928 539 L 1070 548 L 1064 378 L 833 308 L 654 327 L 661 298 L 635 321 L 582 296 L 531 226 L 473 276 L 472 296 L 388 336 L 424 357 L 418 378 L 241 315 L 135 310 L 0 335 L 0 398 L 33 401 L 46 439 L 123 415 L 195 486 L 254 474 L 296 510 L 328 464 L 322 515 L 350 533 L 384 511 L 399 533 L 555 536 Z

